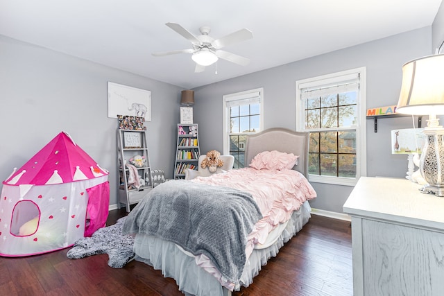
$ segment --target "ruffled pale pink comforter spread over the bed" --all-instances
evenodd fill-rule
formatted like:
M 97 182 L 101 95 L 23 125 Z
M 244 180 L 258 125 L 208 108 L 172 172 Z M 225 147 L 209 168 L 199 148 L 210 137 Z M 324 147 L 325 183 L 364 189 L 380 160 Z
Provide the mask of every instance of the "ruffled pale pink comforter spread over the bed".
M 316 192 L 308 180 L 293 170 L 240 168 L 211 177 L 196 177 L 191 182 L 228 186 L 253 195 L 264 218 L 259 220 L 253 232 L 248 235 L 247 258 L 253 252 L 255 244 L 264 243 L 268 233 L 279 223 L 289 220 L 292 212 L 299 209 L 306 200 L 316 198 Z M 221 279 L 218 272 L 207 264 L 207 259 L 196 258 L 196 262 L 219 279 L 223 286 L 233 290 L 234 286 Z

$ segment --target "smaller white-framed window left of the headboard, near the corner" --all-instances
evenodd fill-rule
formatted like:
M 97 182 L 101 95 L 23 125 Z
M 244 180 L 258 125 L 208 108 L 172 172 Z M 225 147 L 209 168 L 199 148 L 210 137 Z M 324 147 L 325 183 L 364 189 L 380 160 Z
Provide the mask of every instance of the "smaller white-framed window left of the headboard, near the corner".
M 234 156 L 233 168 L 244 168 L 248 134 L 262 130 L 264 91 L 252 89 L 223 96 L 223 154 Z

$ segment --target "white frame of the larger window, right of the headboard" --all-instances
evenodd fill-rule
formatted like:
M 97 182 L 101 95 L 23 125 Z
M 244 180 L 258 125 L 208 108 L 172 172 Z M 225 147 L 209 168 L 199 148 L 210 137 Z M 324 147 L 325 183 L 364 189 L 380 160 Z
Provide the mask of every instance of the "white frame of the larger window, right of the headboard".
M 328 84 L 334 84 L 350 78 L 352 76 L 359 75 L 359 100 L 357 101 L 357 125 L 351 127 L 352 130 L 356 130 L 356 177 L 332 177 L 323 175 L 309 175 L 308 180 L 310 182 L 338 184 L 345 186 L 355 186 L 359 177 L 367 175 L 367 148 L 366 148 L 366 67 L 360 67 L 356 69 L 350 69 L 347 71 L 341 71 L 331 73 L 323 76 L 317 76 L 314 78 L 307 78 L 296 81 L 296 130 L 298 132 L 309 132 L 305 128 L 305 105 L 302 99 L 302 89 L 305 87 L 325 86 Z M 341 128 L 338 128 L 341 130 Z M 350 128 L 345 128 L 350 130 Z

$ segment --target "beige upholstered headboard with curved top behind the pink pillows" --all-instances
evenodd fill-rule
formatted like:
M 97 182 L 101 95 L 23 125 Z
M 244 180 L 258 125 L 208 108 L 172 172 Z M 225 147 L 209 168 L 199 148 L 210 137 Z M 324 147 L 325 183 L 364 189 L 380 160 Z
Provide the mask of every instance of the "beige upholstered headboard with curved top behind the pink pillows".
M 293 132 L 286 128 L 270 128 L 248 136 L 245 152 L 245 165 L 263 151 L 278 150 L 299 155 L 298 164 L 293 168 L 305 177 L 308 174 L 308 132 Z

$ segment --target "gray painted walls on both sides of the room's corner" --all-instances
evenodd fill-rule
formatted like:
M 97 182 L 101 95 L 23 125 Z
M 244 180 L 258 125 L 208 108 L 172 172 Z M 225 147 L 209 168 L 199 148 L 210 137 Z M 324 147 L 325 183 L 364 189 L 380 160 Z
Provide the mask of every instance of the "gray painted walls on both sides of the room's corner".
M 199 123 L 202 152 L 223 149 L 224 94 L 264 87 L 265 128 L 294 130 L 296 80 L 365 66 L 367 108 L 395 105 L 402 64 L 434 53 L 444 40 L 443 19 L 441 5 L 432 27 L 195 89 L 194 121 Z M 295 42 L 295 46 L 300 44 Z M 152 121 L 146 122 L 151 164 L 172 177 L 180 87 L 0 35 L 0 180 L 5 180 L 12 168 L 22 166 L 64 130 L 103 168 L 110 170 L 110 204 L 115 204 L 117 119 L 107 117 L 108 81 L 151 91 Z M 373 121 L 366 123 L 368 175 L 404 177 L 407 157 L 391 155 L 390 132 L 411 127 L 411 119 L 380 119 L 377 133 L 373 132 Z M 342 211 L 352 190 L 350 186 L 327 184 L 314 184 L 314 188 L 318 198 L 311 206 L 336 212 Z

